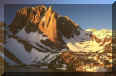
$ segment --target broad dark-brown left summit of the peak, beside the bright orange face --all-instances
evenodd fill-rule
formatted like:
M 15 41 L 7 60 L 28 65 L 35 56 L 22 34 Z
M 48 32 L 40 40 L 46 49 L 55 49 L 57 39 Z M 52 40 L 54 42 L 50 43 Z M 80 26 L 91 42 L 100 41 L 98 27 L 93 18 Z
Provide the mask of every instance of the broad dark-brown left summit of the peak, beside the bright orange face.
M 30 25 L 30 23 L 32 26 L 37 25 L 46 10 L 47 8 L 44 5 L 19 9 L 16 12 L 13 22 L 9 26 L 10 31 L 16 34 L 24 26 Z

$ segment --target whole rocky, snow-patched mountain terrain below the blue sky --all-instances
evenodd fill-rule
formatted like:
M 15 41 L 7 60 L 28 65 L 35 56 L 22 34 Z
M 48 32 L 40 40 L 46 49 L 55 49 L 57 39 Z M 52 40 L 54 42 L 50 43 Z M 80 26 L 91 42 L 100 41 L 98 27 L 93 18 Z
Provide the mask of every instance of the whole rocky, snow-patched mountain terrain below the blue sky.
M 7 32 L 10 33 L 4 51 L 10 65 L 54 65 L 55 70 L 76 72 L 111 71 L 112 31 L 83 30 L 52 7 L 19 9 Z

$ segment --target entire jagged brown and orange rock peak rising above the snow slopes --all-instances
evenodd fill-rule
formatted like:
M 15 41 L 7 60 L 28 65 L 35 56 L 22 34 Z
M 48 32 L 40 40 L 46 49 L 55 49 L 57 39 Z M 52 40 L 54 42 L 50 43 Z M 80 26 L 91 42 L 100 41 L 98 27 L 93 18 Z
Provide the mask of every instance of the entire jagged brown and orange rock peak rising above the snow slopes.
M 62 36 L 71 37 L 78 27 L 68 16 L 61 16 L 51 6 L 47 8 L 44 5 L 19 9 L 9 26 L 14 34 L 23 28 L 27 33 L 39 31 L 55 44 L 62 43 Z

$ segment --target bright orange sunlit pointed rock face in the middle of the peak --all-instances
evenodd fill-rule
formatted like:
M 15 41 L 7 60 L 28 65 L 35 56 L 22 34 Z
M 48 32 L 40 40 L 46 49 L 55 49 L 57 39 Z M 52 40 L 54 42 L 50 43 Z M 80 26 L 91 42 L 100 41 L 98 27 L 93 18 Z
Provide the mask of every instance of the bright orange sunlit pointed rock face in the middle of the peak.
M 52 41 L 55 42 L 57 41 L 58 38 L 58 30 L 57 30 L 57 25 L 56 25 L 56 14 L 55 12 L 52 11 L 52 8 L 49 8 L 45 16 L 42 18 L 40 24 L 38 25 L 38 28 L 40 31 L 42 31 L 48 38 Z

